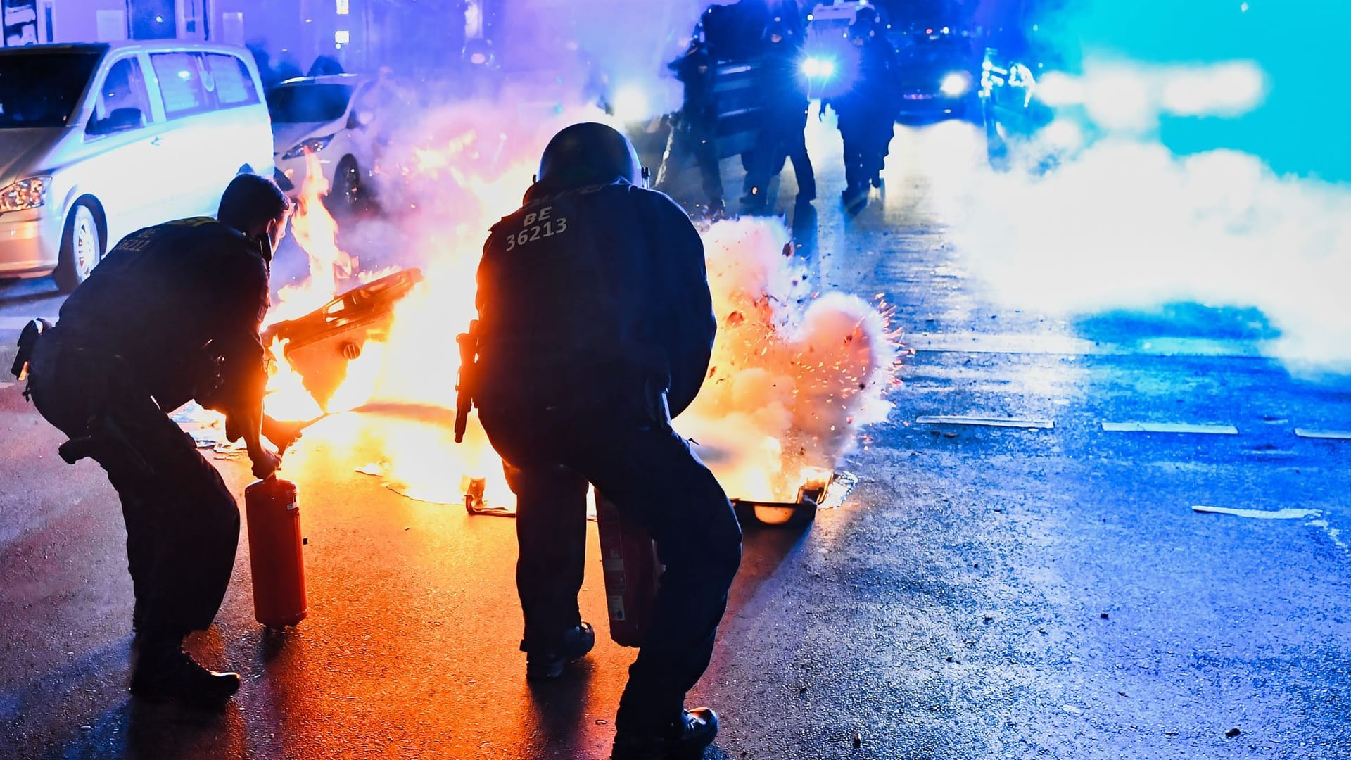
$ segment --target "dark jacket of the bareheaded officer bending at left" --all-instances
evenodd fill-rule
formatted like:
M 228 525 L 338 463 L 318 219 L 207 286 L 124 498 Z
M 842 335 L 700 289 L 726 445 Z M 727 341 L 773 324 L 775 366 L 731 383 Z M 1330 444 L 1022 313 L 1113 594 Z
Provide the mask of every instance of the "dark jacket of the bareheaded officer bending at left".
M 61 342 L 122 357 L 132 385 L 162 408 L 208 403 L 209 392 L 216 408 L 257 410 L 267 384 L 258 337 L 269 306 L 266 254 L 209 218 L 132 233 L 61 307 Z

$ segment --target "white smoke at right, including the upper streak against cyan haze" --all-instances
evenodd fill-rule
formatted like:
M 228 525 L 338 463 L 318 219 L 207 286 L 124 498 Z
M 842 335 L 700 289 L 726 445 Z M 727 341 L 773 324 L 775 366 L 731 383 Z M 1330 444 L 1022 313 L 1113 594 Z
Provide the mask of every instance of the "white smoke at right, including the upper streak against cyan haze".
M 1256 307 L 1279 331 L 1267 356 L 1300 373 L 1351 371 L 1351 185 L 1281 176 L 1236 150 L 1177 156 L 1158 137 L 1162 115 L 1260 105 L 1260 69 L 1116 60 L 1085 70 L 1039 84 L 1040 97 L 1082 107 L 1077 119 L 1015 145 L 1012 170 L 975 166 L 939 200 L 970 270 L 1001 304 L 1059 315 Z M 1046 151 L 1058 156 L 1050 169 Z

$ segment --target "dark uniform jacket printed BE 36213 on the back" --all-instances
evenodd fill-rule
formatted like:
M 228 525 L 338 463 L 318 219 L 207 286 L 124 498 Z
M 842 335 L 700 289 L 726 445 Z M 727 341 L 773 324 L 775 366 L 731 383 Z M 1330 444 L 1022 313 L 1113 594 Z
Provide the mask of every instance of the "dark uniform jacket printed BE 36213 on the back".
M 623 180 L 531 188 L 484 246 L 477 306 L 476 400 L 486 408 L 640 402 L 655 381 L 680 414 L 716 331 L 694 224 L 671 199 Z

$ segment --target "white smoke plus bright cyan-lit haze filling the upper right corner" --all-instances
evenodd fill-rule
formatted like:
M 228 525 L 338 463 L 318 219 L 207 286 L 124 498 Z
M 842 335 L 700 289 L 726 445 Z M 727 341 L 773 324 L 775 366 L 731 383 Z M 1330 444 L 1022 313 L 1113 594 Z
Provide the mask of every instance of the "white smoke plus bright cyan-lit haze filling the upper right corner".
M 1082 72 L 1043 72 L 1038 96 L 1062 118 L 1012 170 L 977 166 L 943 200 L 971 272 L 1002 304 L 1065 315 L 1256 307 L 1279 333 L 1260 346 L 1269 356 L 1298 373 L 1351 372 L 1351 185 L 1333 181 L 1351 166 L 1343 139 L 1319 139 L 1344 124 L 1346 103 L 1294 97 L 1310 72 L 1336 68 L 1337 47 L 1321 46 L 1337 28 L 1328 16 L 1351 9 L 1329 5 L 1086 1 L 1061 14 Z

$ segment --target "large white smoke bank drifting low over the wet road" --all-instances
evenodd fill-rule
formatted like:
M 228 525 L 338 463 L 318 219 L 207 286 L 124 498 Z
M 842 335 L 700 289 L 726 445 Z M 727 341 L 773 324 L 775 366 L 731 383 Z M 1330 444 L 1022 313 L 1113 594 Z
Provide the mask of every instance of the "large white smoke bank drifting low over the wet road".
M 1217 150 L 1108 141 L 1044 176 L 992 174 L 952 224 L 994 293 L 1062 314 L 1258 307 L 1296 368 L 1351 368 L 1351 188 Z

